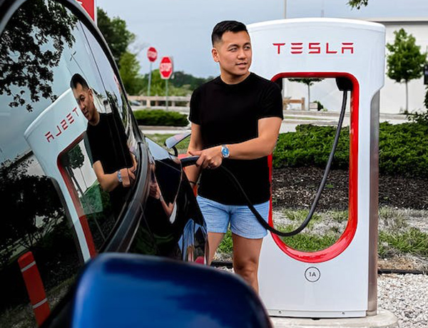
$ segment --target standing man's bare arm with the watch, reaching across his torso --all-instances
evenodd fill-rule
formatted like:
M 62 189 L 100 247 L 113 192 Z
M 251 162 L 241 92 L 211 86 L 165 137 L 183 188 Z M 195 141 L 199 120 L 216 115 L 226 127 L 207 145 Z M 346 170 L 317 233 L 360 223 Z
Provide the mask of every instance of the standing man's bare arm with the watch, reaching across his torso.
M 253 160 L 270 155 L 275 148 L 281 122 L 282 119 L 278 117 L 260 118 L 260 120 L 258 120 L 258 137 L 244 141 L 243 143 L 228 145 L 230 151 L 229 158 L 236 160 Z M 221 145 L 197 151 L 190 150 L 189 145 L 188 153 L 190 153 L 190 155 L 200 156 L 196 165 L 202 168 L 206 168 L 208 165 L 210 165 L 210 168 L 218 168 L 223 161 Z

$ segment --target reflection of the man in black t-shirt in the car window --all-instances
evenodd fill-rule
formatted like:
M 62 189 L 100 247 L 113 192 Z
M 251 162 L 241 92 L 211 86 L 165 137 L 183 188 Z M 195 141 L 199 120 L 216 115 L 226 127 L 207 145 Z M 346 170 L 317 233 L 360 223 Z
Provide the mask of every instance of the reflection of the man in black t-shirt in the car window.
M 104 191 L 110 194 L 115 215 L 121 211 L 127 188 L 135 180 L 136 160 L 127 145 L 125 130 L 115 113 L 98 113 L 93 103 L 93 91 L 80 74 L 70 83 L 73 96 L 83 116 L 88 120 L 86 135 L 92 168 Z

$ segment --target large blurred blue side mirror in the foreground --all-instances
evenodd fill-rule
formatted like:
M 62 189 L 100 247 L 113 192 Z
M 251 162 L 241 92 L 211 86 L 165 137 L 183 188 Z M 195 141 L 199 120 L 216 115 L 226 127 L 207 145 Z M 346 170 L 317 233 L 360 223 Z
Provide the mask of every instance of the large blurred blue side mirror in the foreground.
M 73 328 L 272 327 L 243 280 L 203 265 L 104 253 L 83 271 Z

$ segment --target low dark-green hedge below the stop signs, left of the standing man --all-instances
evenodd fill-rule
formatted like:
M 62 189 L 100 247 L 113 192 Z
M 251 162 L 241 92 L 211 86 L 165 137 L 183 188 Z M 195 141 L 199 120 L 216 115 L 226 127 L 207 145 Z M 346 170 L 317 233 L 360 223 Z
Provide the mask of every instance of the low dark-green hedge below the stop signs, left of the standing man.
M 186 115 L 161 109 L 134 111 L 133 114 L 138 125 L 187 126 L 189 123 Z

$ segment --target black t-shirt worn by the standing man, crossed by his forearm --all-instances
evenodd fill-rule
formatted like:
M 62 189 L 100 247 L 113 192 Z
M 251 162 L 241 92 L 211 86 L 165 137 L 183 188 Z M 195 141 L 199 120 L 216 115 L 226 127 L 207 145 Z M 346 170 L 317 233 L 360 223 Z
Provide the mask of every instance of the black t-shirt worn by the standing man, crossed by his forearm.
M 282 95 L 273 82 L 250 73 L 238 84 L 220 77 L 197 88 L 190 100 L 190 121 L 200 125 L 203 148 L 242 143 L 258 137 L 260 118 L 282 118 Z M 238 179 L 253 204 L 270 198 L 267 157 L 225 159 L 223 164 Z M 203 170 L 198 194 L 226 205 L 244 205 L 243 196 L 221 170 Z

